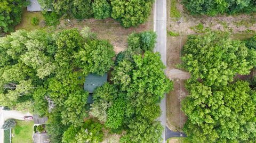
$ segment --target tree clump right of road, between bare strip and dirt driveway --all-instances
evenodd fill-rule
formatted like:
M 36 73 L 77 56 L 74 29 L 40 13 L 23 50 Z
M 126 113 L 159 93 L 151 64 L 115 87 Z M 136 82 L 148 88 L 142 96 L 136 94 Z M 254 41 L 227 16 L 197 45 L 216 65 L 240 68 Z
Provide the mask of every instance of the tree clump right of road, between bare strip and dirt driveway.
M 213 33 L 189 36 L 181 57 L 194 80 L 201 79 L 207 86 L 227 85 L 235 74 L 249 74 L 255 66 L 256 51 L 239 40 L 218 37 Z

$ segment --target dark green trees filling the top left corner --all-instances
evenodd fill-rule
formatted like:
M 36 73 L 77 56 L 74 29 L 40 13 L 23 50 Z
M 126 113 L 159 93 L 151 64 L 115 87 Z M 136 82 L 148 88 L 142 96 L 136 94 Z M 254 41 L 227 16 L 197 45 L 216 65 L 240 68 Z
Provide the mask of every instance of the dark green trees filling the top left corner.
M 29 4 L 26 0 L 2 0 L 0 3 L 0 33 L 13 31 L 20 23 L 23 9 Z

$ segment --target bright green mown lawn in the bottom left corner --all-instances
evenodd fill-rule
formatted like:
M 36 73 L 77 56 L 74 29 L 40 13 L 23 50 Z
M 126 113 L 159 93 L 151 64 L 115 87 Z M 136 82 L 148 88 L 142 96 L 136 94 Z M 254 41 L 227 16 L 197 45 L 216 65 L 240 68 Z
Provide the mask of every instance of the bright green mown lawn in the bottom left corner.
M 16 120 L 16 126 L 12 129 L 12 143 L 30 143 L 33 142 L 33 125 L 31 121 Z

